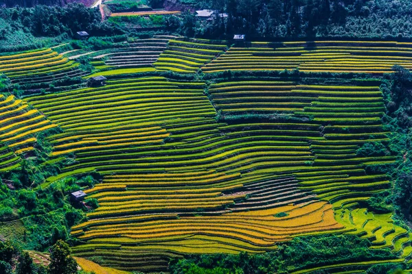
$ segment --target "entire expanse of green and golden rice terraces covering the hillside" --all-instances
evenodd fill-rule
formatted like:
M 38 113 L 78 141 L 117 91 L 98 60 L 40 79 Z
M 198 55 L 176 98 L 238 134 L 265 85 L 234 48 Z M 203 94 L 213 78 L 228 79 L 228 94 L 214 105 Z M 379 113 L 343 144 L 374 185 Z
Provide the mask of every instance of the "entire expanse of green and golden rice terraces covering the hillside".
M 412 44 L 229 44 L 135 40 L 93 52 L 101 71 L 87 76 L 52 49 L 0 55 L 0 72 L 13 83 L 108 77 L 100 87 L 0 97 L 0 171 L 19 167 L 37 134 L 59 127 L 47 137 L 51 161 L 76 162 L 41 188 L 100 174 L 99 184 L 83 188 L 99 206 L 71 234 L 79 240 L 73 253 L 98 256 L 104 267 L 168 272 L 170 258 L 189 253 L 262 253 L 297 236 L 332 233 L 367 238 L 371 249 L 389 248 L 398 258 L 290 272 L 361 273 L 371 264 L 412 262 L 409 231 L 367 207 L 391 187 L 380 167 L 396 160 L 362 152 L 389 142 L 377 79 L 203 75 L 299 69 L 380 77 L 393 64 L 409 68 Z

